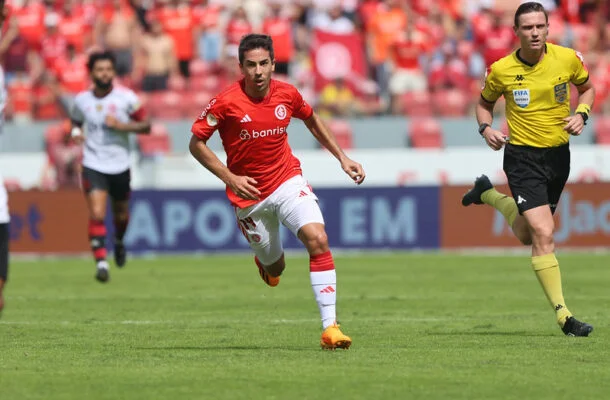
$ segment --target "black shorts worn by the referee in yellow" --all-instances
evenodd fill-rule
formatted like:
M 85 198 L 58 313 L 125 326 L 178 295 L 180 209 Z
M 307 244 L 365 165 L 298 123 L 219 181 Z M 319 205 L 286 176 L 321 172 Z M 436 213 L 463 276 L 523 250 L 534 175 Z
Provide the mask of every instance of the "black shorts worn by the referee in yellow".
M 570 175 L 570 147 L 537 148 L 507 144 L 504 172 L 519 214 L 548 204 L 555 213 Z

